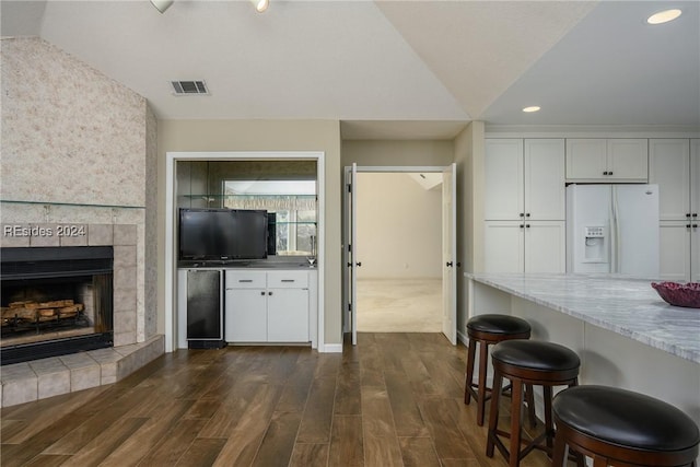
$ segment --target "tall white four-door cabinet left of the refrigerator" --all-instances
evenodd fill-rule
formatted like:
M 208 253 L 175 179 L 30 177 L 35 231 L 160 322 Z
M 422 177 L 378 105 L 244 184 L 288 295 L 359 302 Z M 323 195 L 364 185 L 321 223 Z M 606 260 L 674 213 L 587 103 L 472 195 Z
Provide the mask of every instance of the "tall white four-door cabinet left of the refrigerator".
M 565 271 L 563 139 L 487 139 L 485 271 Z

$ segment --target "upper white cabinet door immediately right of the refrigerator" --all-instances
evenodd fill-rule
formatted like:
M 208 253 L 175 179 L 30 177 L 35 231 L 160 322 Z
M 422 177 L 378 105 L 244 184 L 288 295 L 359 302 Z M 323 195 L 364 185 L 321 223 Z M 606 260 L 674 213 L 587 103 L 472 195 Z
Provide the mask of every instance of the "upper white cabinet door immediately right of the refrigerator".
M 658 215 L 679 221 L 690 213 L 690 145 L 687 139 L 649 140 L 649 183 L 658 185 Z

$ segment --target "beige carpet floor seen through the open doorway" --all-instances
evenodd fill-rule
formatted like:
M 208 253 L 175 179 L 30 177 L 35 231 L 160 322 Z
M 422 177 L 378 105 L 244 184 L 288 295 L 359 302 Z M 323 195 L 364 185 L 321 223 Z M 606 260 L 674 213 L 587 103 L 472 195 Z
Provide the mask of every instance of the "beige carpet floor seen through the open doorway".
M 442 331 L 442 279 L 358 280 L 358 330 Z

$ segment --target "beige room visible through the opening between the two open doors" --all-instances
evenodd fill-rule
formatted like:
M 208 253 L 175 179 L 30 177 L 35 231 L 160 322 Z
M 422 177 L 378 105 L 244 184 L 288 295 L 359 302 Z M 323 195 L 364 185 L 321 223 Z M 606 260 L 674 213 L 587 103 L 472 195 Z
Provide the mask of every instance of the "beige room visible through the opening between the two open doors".
M 442 330 L 442 174 L 357 178 L 358 331 Z

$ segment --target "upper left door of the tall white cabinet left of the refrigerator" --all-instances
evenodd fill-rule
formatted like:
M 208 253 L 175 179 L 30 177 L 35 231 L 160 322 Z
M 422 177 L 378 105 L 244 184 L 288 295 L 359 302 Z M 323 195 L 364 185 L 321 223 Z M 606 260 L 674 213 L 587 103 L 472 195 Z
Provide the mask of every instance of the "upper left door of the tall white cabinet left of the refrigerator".
M 524 214 L 523 140 L 487 139 L 483 215 L 518 220 Z

